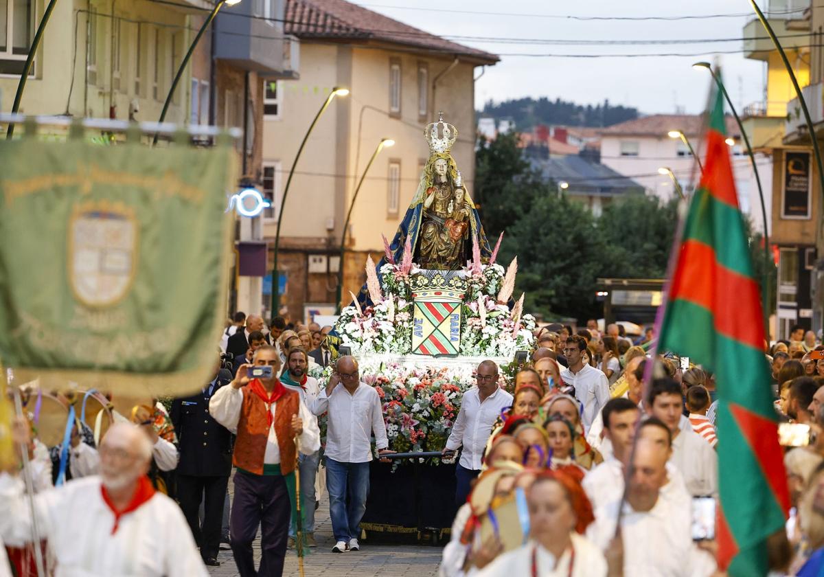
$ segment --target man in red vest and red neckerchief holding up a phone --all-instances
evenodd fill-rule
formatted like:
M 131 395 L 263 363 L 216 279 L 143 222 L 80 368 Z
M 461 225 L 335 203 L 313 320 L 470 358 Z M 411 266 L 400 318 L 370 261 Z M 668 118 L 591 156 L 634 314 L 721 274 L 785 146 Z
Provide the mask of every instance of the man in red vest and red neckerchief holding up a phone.
M 271 376 L 250 378 L 253 368 L 270 367 Z M 235 499 L 229 521 L 232 553 L 241 577 L 283 575 L 283 557 L 294 501 L 297 451 L 321 448 L 316 420 L 297 392 L 279 381 L 280 355 L 273 346 L 255 350 L 253 364 L 242 364 L 230 387 L 209 401 L 218 423 L 236 433 L 232 463 Z M 295 439 L 298 439 L 298 445 Z M 252 542 L 260 525 L 260 568 L 255 570 Z

